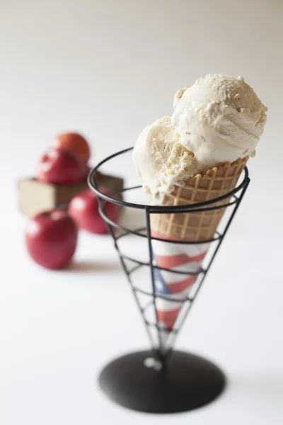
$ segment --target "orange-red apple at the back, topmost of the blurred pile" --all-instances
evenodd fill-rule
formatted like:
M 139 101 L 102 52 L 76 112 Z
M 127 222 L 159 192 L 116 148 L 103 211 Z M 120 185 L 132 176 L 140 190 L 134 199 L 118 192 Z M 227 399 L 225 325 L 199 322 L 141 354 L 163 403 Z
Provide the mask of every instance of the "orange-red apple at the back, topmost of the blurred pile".
M 51 142 L 52 147 L 62 147 L 69 149 L 81 158 L 81 161 L 88 162 L 91 157 L 91 149 L 86 139 L 75 132 L 66 132 L 57 135 Z

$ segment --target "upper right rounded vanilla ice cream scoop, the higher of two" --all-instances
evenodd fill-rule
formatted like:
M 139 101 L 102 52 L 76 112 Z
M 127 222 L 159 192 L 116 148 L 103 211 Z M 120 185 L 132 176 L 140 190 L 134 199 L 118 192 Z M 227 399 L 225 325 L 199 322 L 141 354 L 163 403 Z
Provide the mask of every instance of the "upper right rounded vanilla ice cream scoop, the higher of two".
M 171 123 L 200 169 L 253 155 L 267 108 L 241 78 L 207 74 L 178 91 Z

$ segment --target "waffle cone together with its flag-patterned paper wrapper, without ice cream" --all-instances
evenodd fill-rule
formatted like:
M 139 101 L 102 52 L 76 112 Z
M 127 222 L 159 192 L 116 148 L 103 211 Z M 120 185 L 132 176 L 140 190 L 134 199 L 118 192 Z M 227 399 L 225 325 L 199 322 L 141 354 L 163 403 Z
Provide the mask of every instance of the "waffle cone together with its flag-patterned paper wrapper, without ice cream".
M 185 183 L 175 186 L 173 193 L 163 197 L 161 205 L 187 205 L 219 198 L 231 192 L 237 184 L 248 157 L 238 159 L 233 164 L 209 169 L 202 176 L 198 174 Z M 226 198 L 211 206 L 226 205 Z M 197 244 L 174 244 L 173 242 L 152 240 L 155 265 L 168 270 L 154 268 L 154 286 L 158 324 L 173 328 L 183 302 L 175 299 L 187 298 L 190 288 L 197 280 L 202 261 L 209 249 L 209 241 L 214 237 L 216 228 L 226 208 L 204 212 L 186 212 L 174 214 L 151 214 L 151 236 L 166 241 L 199 242 Z M 200 243 L 203 242 L 203 243 Z M 176 273 L 177 271 L 188 274 Z M 168 332 L 167 332 L 168 334 Z M 166 339 L 166 338 L 165 338 Z M 165 340 L 163 338 L 163 340 Z

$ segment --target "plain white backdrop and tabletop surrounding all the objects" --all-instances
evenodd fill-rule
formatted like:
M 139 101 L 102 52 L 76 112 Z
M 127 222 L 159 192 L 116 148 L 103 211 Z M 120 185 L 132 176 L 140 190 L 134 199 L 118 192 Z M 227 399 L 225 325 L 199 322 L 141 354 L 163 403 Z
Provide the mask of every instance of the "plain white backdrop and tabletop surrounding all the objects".
M 279 0 L 0 1 L 1 424 L 282 424 L 282 12 Z M 70 270 L 38 268 L 16 179 L 57 132 L 83 132 L 93 164 L 133 145 L 208 72 L 243 76 L 269 108 L 252 183 L 177 344 L 219 363 L 229 387 L 196 412 L 143 415 L 96 383 L 110 358 L 148 346 L 112 242 L 81 234 Z

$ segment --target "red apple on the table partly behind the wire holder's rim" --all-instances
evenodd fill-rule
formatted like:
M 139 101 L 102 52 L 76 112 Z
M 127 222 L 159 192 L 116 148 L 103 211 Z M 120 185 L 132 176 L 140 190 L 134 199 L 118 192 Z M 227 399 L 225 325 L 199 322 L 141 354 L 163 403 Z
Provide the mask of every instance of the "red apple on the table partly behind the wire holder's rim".
M 110 191 L 107 188 L 100 188 L 100 191 L 110 195 Z M 96 234 L 108 233 L 108 227 L 98 211 L 98 198 L 91 189 L 85 189 L 79 195 L 76 195 L 69 203 L 68 212 L 79 228 Z M 105 212 L 110 220 L 117 222 L 120 215 L 120 206 L 106 202 Z

